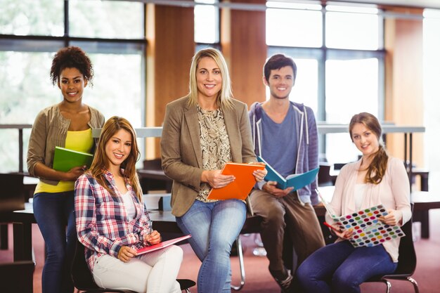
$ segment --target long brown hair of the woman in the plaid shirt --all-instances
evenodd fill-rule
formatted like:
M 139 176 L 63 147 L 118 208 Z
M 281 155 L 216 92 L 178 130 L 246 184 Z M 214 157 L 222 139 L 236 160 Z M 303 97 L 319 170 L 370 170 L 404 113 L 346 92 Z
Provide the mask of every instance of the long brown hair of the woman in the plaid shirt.
M 131 184 L 134 192 L 136 193 L 136 196 L 140 201 L 142 201 L 141 184 L 139 183 L 138 174 L 136 173 L 136 162 L 139 158 L 140 152 L 138 149 L 138 144 L 136 143 L 136 132 L 127 119 L 113 116 L 108 119 L 107 122 L 105 122 L 89 172 L 94 178 L 96 178 L 96 181 L 98 181 L 103 188 L 115 196 L 115 191 L 110 189 L 104 177 L 105 170 L 110 166 L 110 159 L 108 159 L 107 155 L 105 154 L 105 145 L 120 129 L 124 129 L 131 134 L 131 151 L 127 159 L 125 159 L 121 164 L 121 168 L 124 169 L 123 176 L 124 178 L 128 179 L 129 184 Z

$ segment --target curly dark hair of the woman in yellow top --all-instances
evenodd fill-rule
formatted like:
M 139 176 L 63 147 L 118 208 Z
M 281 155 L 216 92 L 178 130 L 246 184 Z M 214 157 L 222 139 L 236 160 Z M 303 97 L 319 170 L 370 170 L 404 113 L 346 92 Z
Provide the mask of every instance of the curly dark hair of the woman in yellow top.
M 60 74 L 65 68 L 76 68 L 84 75 L 90 85 L 93 79 L 93 65 L 82 48 L 68 46 L 61 48 L 53 57 L 51 67 L 52 84 L 55 85 L 60 79 Z

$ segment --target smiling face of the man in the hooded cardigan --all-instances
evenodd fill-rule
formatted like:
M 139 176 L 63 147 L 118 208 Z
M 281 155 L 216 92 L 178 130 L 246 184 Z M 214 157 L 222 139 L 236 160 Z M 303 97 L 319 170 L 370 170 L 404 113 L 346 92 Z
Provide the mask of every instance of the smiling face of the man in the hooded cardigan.
M 292 67 L 285 66 L 277 70 L 271 70 L 269 79 L 266 80 L 266 78 L 263 77 L 263 81 L 271 91 L 271 98 L 289 98 L 294 83 Z

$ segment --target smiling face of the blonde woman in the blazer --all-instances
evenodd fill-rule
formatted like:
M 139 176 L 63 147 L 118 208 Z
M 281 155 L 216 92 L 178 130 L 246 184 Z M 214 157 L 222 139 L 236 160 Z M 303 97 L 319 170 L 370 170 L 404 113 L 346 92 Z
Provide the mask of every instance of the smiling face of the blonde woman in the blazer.
M 216 99 L 221 90 L 221 71 L 219 65 L 210 57 L 203 57 L 195 73 L 197 81 L 198 99 Z

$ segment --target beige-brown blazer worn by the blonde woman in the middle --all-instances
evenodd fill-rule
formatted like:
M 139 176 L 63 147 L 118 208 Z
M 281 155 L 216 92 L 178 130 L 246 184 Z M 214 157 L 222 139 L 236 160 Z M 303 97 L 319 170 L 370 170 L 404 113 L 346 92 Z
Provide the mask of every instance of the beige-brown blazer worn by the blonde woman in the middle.
M 203 171 L 197 107 L 188 107 L 187 101 L 183 97 L 167 105 L 160 141 L 162 169 L 173 180 L 174 216 L 183 216 L 193 204 Z M 238 100 L 233 100 L 233 105 L 233 109 L 222 109 L 233 162 L 257 162 L 247 105 Z

